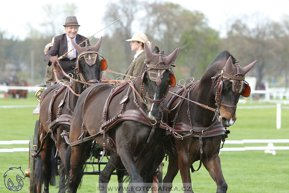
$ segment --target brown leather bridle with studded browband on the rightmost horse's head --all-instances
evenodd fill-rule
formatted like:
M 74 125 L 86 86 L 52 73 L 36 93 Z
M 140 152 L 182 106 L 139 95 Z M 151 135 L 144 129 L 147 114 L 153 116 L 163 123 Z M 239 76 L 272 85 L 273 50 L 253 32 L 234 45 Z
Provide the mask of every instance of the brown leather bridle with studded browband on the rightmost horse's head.
M 218 86 L 218 89 L 216 89 L 216 97 L 215 97 L 216 106 L 218 108 L 222 106 L 227 109 L 237 109 L 237 106 L 222 104 L 220 100 L 224 81 L 232 82 L 232 90 L 236 95 L 243 90 L 243 81 L 245 81 L 245 76 L 243 76 L 240 72 L 242 68 L 238 65 L 238 63 L 233 64 L 233 67 L 236 68 L 237 70 L 236 74 L 234 75 L 228 74 L 224 71 L 224 69 L 222 69 L 215 77 L 212 77 L 212 79 L 218 78 L 218 82 L 215 86 L 215 87 Z

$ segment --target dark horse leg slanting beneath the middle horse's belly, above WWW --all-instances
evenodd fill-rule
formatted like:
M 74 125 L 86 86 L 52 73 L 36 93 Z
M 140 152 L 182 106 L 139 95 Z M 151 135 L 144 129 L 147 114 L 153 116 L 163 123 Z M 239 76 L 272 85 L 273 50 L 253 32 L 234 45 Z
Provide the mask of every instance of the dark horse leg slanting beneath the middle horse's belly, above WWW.
M 107 192 L 107 184 L 110 180 L 110 176 L 112 175 L 113 171 L 116 169 L 115 167 L 118 167 L 120 163 L 121 163 L 121 160 L 120 160 L 120 157 L 117 155 L 117 153 L 110 152 L 110 158 L 106 166 L 102 170 L 102 172 L 99 174 L 98 183 L 99 183 L 99 187 L 101 187 L 100 192 Z

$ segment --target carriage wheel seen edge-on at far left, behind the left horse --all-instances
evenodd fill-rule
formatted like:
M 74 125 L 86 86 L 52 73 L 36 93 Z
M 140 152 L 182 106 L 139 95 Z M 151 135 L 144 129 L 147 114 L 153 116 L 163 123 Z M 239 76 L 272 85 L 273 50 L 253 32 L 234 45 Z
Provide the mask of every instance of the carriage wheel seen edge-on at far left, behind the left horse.
M 34 183 L 33 173 L 34 173 L 34 163 L 35 159 L 31 156 L 33 153 L 32 150 L 37 149 L 37 140 L 38 140 L 38 128 L 39 128 L 39 120 L 36 120 L 35 129 L 34 129 L 34 136 L 30 135 L 29 140 L 29 169 L 25 172 L 26 176 L 29 177 L 29 193 L 41 193 L 42 192 L 42 184 Z

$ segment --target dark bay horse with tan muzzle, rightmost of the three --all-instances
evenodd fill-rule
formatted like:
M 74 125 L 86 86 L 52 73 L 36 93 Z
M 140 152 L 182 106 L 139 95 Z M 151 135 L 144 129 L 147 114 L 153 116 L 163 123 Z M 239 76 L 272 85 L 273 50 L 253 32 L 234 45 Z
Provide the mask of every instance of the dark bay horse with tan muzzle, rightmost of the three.
M 199 81 L 188 84 L 186 91 L 176 87 L 169 89 L 171 92 L 177 92 L 179 89 L 180 95 L 186 92 L 184 95 L 186 98 L 204 105 L 183 100 L 178 108 L 168 114 L 168 124 L 182 134 L 183 139 L 175 136 L 177 157 L 172 152 L 169 153 L 168 172 L 163 179 L 163 188 L 166 187 L 168 190 L 168 187 L 172 187 L 172 181 L 180 170 L 185 192 L 193 192 L 190 168 L 192 172 L 196 171 L 192 163 L 201 160 L 217 184 L 217 193 L 227 191 L 228 186 L 222 174 L 218 155 L 220 144 L 228 133 L 225 128 L 236 121 L 235 112 L 240 95 L 245 97 L 250 95 L 250 87 L 244 79 L 245 74 L 255 64 L 256 61 L 241 68 L 228 51 L 222 51 L 210 63 Z M 164 102 L 164 104 L 170 103 L 166 106 L 168 109 L 176 106 L 179 98 L 175 99 L 177 100 L 173 100 L 172 94 L 168 94 Z M 213 107 L 211 109 L 217 107 L 216 112 L 209 110 L 210 107 Z M 219 122 L 215 121 L 215 115 Z M 169 147 L 169 144 L 170 142 L 167 142 L 165 147 Z M 157 162 L 162 159 L 163 155 Z

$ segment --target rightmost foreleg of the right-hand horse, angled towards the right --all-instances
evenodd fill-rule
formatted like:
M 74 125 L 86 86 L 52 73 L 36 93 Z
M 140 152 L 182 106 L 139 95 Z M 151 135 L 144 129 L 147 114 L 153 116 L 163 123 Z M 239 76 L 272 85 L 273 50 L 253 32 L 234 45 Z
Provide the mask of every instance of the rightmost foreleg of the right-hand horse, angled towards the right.
M 225 182 L 222 169 L 221 161 L 218 154 L 214 154 L 212 157 L 203 159 L 205 168 L 210 173 L 211 177 L 217 184 L 217 193 L 224 193 L 228 189 L 228 185 Z

